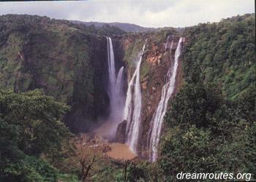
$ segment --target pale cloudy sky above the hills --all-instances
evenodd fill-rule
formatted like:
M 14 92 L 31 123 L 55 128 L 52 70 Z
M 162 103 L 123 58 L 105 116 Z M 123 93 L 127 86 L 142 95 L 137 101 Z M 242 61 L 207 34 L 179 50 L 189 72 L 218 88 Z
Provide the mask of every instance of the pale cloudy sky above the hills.
M 0 15 L 185 27 L 255 12 L 254 0 L 95 0 L 0 2 Z

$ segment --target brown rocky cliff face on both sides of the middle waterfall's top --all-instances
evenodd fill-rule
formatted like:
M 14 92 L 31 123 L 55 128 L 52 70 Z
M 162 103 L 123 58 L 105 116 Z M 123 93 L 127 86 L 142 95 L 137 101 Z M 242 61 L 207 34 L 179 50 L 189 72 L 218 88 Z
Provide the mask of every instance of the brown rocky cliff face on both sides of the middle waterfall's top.
M 143 98 L 139 145 L 139 155 L 141 157 L 148 156 L 147 141 L 151 118 L 159 103 L 162 86 L 166 83 L 166 74 L 174 61 L 174 53 L 178 44 L 179 36 L 175 35 L 174 32 L 169 33 L 173 33 L 173 41 L 175 42 L 172 50 L 170 50 L 170 39 L 167 40 L 167 47 L 165 47 L 167 33 L 136 34 L 114 38 L 116 42 L 115 50 L 119 49 L 122 52 L 118 58 L 124 60 L 126 64 L 128 80 L 134 71 L 133 63 L 147 39 L 146 52 L 143 55 L 143 62 L 140 68 L 140 84 Z M 175 92 L 182 84 L 181 63 L 178 66 L 176 79 Z

